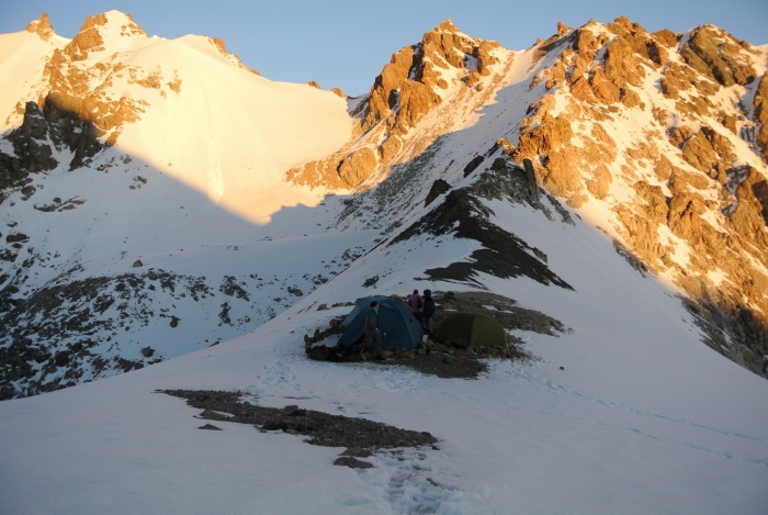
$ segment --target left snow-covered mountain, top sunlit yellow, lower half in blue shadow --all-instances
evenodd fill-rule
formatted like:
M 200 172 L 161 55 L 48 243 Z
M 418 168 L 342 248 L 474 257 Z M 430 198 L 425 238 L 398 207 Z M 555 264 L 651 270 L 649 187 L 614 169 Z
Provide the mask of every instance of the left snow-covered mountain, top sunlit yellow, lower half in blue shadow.
M 343 98 L 263 79 L 205 37 L 148 37 L 114 11 L 71 42 L 30 29 L 0 42 L 15 49 L 3 91 L 20 91 L 3 97 L 4 398 L 245 334 L 351 259 L 337 254 L 359 246 L 348 235 L 326 236 L 343 246 L 330 255 L 305 250 L 324 228 L 312 216 L 284 227 L 323 199 L 284 172 L 346 142 Z M 296 268 L 260 265 L 274 254 Z

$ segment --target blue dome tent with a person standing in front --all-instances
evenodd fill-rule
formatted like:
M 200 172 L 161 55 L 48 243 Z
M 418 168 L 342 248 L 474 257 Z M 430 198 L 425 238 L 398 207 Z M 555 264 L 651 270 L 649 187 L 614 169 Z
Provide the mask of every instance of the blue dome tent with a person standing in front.
M 379 329 L 382 350 L 411 350 L 421 345 L 423 329 L 403 302 L 388 296 L 364 296 L 358 299 L 354 309 L 343 321 L 346 327 L 339 338 L 340 347 L 351 347 L 363 340 L 365 317 L 371 302 L 379 302 Z

